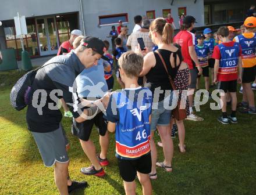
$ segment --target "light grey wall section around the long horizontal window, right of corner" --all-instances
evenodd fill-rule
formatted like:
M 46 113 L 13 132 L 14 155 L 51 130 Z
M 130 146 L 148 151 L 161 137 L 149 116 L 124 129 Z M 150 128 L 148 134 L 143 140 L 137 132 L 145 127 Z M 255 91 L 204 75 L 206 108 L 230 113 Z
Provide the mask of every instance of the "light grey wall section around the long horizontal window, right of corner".
M 174 0 L 172 6 L 171 2 L 171 0 L 104 0 L 104 3 L 102 0 L 83 1 L 86 34 L 106 39 L 112 25 L 99 27 L 98 16 L 119 13 L 128 13 L 129 23 L 125 25 L 128 26 L 130 34 L 134 27 L 133 17 L 145 16 L 148 10 L 155 10 L 155 17 L 162 17 L 162 9 L 171 9 L 175 26 L 179 27 L 178 8 L 180 7 L 187 8 L 187 15 L 195 17 L 198 22 L 197 26 L 204 25 L 204 0 L 197 0 L 196 3 L 194 0 Z

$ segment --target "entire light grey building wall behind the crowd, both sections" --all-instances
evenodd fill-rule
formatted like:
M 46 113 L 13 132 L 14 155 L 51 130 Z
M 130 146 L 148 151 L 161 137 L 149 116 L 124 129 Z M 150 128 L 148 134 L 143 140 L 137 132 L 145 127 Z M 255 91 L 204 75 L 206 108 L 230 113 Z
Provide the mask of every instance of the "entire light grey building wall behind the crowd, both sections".
M 171 9 L 172 17 L 176 27 L 179 27 L 178 8 L 186 7 L 187 15 L 193 15 L 197 20 L 197 26 L 204 25 L 204 0 L 81 0 L 83 5 L 84 24 L 86 35 L 94 35 L 96 37 L 106 39 L 111 30 L 109 26 L 98 26 L 98 16 L 115 15 L 119 13 L 128 13 L 129 23 L 125 24 L 129 27 L 129 34 L 134 27 L 133 17 L 136 15 L 146 15 L 146 11 L 155 10 L 156 17 L 162 17 L 162 9 Z M 59 13 L 79 12 L 79 0 L 12 0 L 1 3 L 0 20 L 13 20 L 17 15 L 26 17 L 37 17 L 56 15 Z M 80 12 L 79 12 L 80 14 Z M 79 17 L 79 28 L 81 26 L 81 18 Z M 1 28 L 1 27 L 0 27 Z M 109 39 L 109 38 L 108 38 Z M 0 42 L 5 45 L 4 34 L 0 29 Z M 110 41 L 110 39 L 109 39 Z

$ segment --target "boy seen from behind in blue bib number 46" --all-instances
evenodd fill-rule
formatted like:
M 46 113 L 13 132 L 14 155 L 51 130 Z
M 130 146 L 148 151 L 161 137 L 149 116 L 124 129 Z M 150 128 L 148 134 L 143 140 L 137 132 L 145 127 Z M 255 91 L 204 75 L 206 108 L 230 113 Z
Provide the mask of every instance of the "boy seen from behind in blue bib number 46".
M 116 157 L 126 194 L 136 193 L 136 175 L 144 194 L 152 194 L 150 117 L 152 92 L 138 85 L 143 56 L 126 52 L 119 58 L 120 76 L 125 89 L 114 92 L 106 108 L 108 131 L 115 132 Z

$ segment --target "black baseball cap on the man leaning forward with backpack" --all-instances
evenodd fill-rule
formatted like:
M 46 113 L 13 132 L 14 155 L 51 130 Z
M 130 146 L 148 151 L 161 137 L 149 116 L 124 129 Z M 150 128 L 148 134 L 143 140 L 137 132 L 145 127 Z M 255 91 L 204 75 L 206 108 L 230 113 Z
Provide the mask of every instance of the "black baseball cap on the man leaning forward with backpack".
M 104 42 L 93 36 L 87 36 L 83 39 L 83 46 L 86 46 L 87 48 L 91 48 L 94 50 L 94 52 L 99 53 L 101 55 L 101 58 L 104 60 L 108 60 L 108 57 L 104 56 L 104 52 L 106 51 L 106 47 Z

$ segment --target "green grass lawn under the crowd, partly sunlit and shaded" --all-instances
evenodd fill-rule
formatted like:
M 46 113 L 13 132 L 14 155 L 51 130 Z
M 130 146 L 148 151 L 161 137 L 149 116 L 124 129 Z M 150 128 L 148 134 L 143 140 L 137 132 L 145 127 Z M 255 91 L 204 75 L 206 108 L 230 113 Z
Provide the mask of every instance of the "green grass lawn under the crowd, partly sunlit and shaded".
M 4 83 L 0 86 L 0 194 L 58 194 L 53 168 L 44 167 L 27 130 L 26 109 L 16 111 L 10 107 L 10 89 L 22 74 L 19 71 L 0 74 L 0 84 Z M 237 113 L 239 124 L 221 125 L 216 119 L 221 111 L 210 110 L 209 103 L 200 108 L 197 114 L 205 120 L 185 122 L 186 154 L 179 153 L 178 139 L 173 139 L 173 172 L 158 168 L 158 179 L 152 181 L 154 194 L 256 194 L 255 115 Z M 111 135 L 106 176 L 85 176 L 80 174 L 80 168 L 90 162 L 79 140 L 70 132 L 70 124 L 70 119 L 63 118 L 70 140 L 70 176 L 89 183 L 85 190 L 73 194 L 125 194 L 115 158 L 114 135 Z M 95 129 L 91 139 L 99 151 Z M 158 141 L 159 136 L 155 139 Z M 158 154 L 158 159 L 163 160 L 159 147 Z M 140 185 L 137 186 L 137 194 L 142 194 Z

